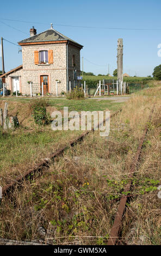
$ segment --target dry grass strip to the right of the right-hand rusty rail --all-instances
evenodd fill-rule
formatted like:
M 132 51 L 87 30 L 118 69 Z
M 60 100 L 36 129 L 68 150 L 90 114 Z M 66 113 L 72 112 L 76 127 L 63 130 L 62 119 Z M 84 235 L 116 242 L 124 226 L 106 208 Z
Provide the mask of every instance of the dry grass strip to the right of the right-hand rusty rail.
M 160 245 L 161 243 L 161 202 L 157 189 L 161 185 L 161 115 L 160 100 L 158 99 L 157 102 L 141 154 L 139 172 L 135 174 L 135 179 L 140 182 L 137 182 L 134 187 L 136 196 L 129 204 L 123 223 L 122 236 L 126 237 L 124 241 L 128 245 Z

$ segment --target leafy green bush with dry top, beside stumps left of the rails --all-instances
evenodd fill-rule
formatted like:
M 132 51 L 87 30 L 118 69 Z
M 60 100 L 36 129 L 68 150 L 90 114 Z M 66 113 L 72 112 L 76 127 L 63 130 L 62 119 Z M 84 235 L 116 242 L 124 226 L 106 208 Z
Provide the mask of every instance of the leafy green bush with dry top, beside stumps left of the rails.
M 46 99 L 36 99 L 30 103 L 30 108 L 32 109 L 35 124 L 46 125 L 49 123 L 46 107 L 48 106 L 48 101 Z

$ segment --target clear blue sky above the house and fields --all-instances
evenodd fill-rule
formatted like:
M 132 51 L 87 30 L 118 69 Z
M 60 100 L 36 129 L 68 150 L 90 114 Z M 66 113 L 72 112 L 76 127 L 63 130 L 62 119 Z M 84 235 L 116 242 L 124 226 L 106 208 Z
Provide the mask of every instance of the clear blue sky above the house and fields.
M 161 57 L 157 54 L 159 50 L 157 46 L 161 43 L 161 30 L 104 29 L 109 27 L 161 29 L 161 1 L 9 0 L 4 1 L 1 8 L 3 11 L 0 17 L 0 36 L 17 43 L 29 37 L 29 29 L 32 26 L 35 26 L 37 33 L 41 33 L 48 29 L 52 22 L 53 28 L 84 46 L 80 52 L 81 70 L 82 57 L 84 57 L 86 72 L 94 72 L 95 75 L 107 74 L 109 64 L 110 74 L 113 74 L 114 69 L 117 68 L 118 38 L 123 38 L 123 72 L 131 76 L 152 75 L 153 68 L 161 64 Z M 5 71 L 21 65 L 22 53 L 18 53 L 18 47 L 7 41 L 3 42 L 3 46 Z

